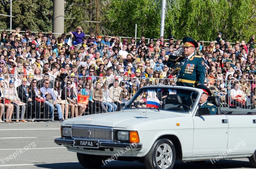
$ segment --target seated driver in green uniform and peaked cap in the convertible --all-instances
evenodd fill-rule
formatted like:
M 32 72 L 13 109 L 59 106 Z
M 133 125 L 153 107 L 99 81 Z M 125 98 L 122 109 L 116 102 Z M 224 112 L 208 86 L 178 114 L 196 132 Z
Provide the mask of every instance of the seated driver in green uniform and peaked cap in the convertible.
M 204 91 L 202 94 L 200 101 L 199 101 L 199 107 L 200 108 L 209 108 L 210 114 L 216 114 L 217 113 L 217 107 L 212 104 L 211 102 L 207 101 L 208 96 L 211 96 L 211 91 L 204 85 L 198 85 L 196 88 L 200 88 Z

